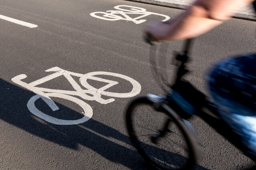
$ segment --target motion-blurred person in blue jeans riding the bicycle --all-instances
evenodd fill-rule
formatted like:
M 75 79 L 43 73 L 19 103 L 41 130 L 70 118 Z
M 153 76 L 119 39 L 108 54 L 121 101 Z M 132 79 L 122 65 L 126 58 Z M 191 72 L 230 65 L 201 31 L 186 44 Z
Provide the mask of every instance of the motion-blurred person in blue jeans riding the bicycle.
M 240 4 L 253 1 L 197 0 L 172 23 L 154 21 L 145 32 L 156 41 L 196 37 L 227 20 Z M 208 78 L 221 119 L 256 156 L 256 55 L 226 59 L 215 66 Z

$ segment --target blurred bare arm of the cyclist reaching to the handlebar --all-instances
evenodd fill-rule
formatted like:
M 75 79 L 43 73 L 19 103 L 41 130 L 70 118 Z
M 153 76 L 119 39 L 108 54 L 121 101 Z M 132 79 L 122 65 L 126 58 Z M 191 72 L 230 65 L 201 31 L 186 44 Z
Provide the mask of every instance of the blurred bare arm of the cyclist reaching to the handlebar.
M 187 39 L 201 35 L 227 20 L 240 4 L 254 0 L 197 0 L 170 24 L 152 22 L 145 29 L 156 40 Z

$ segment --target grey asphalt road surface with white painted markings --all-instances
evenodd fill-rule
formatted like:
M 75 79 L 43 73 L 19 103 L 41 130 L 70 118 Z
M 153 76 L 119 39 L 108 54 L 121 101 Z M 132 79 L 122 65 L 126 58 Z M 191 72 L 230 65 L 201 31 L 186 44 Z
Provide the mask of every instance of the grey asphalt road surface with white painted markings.
M 154 14 L 136 21 L 90 15 L 119 5 Z M 162 93 L 143 28 L 181 12 L 124 0 L 1 0 L 0 169 L 148 169 L 129 140 L 124 112 L 132 99 Z M 186 79 L 208 95 L 209 66 L 255 52 L 255 37 L 256 22 L 230 19 L 196 38 Z M 183 41 L 164 47 L 170 57 L 160 63 L 170 63 Z M 175 68 L 166 68 L 170 81 Z M 95 89 L 102 87 L 99 96 Z M 202 145 L 196 169 L 255 166 L 200 118 L 191 123 Z

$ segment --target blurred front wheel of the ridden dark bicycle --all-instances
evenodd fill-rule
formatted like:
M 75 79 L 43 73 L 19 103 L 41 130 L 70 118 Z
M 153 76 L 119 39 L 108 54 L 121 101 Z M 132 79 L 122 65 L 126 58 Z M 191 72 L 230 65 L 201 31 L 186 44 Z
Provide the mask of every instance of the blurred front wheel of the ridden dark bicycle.
M 165 109 L 156 111 L 146 97 L 130 104 L 126 124 L 133 145 L 155 168 L 191 169 L 194 152 L 186 129 Z

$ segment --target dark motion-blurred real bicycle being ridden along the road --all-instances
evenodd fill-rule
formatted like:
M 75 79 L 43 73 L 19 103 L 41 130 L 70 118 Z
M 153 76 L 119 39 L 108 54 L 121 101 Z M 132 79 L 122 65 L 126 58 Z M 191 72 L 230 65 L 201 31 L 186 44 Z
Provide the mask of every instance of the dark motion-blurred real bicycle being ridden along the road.
M 149 35 L 146 41 L 154 45 Z M 188 121 L 196 115 L 255 162 L 256 157 L 247 152 L 238 135 L 220 119 L 216 106 L 182 78 L 188 72 L 191 41 L 188 39 L 184 52 L 176 55 L 180 64 L 175 82 L 170 86 L 172 90 L 163 96 L 148 94 L 129 104 L 126 127 L 132 144 L 154 168 L 192 169 L 201 154 L 198 138 Z

